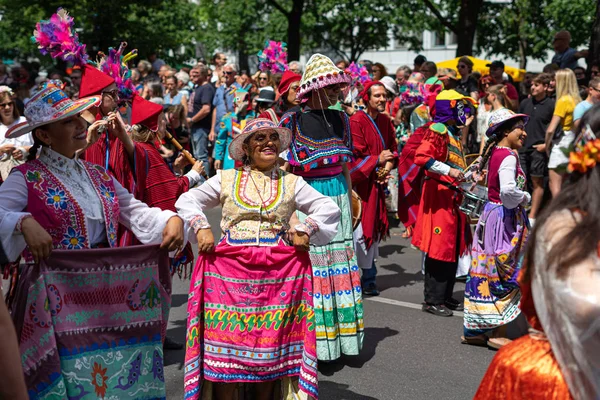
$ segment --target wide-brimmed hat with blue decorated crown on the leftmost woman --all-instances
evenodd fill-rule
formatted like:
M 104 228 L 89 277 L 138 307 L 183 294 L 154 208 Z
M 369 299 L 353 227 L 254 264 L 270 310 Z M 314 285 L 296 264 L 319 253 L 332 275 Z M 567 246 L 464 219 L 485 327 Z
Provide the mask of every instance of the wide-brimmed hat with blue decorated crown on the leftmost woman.
M 48 81 L 25 104 L 26 122 L 16 124 L 6 132 L 13 139 L 44 125 L 61 121 L 100 104 L 99 96 L 71 100 L 61 90 L 60 81 Z

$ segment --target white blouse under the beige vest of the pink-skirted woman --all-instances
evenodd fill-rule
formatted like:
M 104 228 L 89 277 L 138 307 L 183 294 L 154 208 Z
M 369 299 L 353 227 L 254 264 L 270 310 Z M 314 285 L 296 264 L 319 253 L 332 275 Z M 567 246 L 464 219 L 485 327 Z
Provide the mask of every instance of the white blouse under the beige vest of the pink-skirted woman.
M 252 171 L 252 173 L 262 175 L 258 171 Z M 270 172 L 264 173 L 262 181 L 269 179 L 269 174 Z M 195 231 L 210 228 L 204 211 L 221 204 L 221 180 L 222 171 L 219 170 L 215 176 L 207 180 L 202 186 L 190 189 L 187 193 L 182 194 L 175 203 L 179 215 Z M 329 243 L 337 234 L 340 220 L 341 211 L 337 204 L 329 197 L 313 189 L 301 177 L 297 177 L 293 196 L 295 209 L 307 215 L 306 223 L 299 224 L 294 228 L 297 231 L 309 234 L 310 242 L 315 245 Z M 222 228 L 227 225 L 224 222 L 226 217 L 226 215 L 223 215 Z M 256 219 L 256 223 L 259 225 L 260 221 L 260 218 Z M 195 241 L 195 237 L 190 237 L 190 241 Z

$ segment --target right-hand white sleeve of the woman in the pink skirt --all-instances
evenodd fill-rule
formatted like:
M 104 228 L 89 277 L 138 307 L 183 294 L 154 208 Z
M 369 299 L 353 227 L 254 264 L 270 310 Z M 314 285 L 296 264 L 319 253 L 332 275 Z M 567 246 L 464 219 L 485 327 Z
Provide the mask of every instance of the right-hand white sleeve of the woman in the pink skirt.
M 340 208 L 300 177 L 296 182 L 295 194 L 296 208 L 307 215 L 306 220 L 295 227 L 296 230 L 308 233 L 313 244 L 329 243 L 337 234 Z

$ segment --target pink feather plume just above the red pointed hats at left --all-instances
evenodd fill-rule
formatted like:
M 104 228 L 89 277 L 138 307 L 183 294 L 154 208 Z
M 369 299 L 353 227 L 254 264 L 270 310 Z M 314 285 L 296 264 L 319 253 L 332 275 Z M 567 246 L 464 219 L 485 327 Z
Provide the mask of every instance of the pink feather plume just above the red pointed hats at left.
M 122 100 L 131 100 L 135 93 L 135 86 L 131 80 L 131 71 L 127 67 L 127 63 L 137 57 L 137 49 L 123 55 L 125 47 L 127 47 L 127 43 L 122 42 L 118 49 L 114 47 L 109 48 L 108 55 L 104 53 L 98 54 L 99 61 L 97 64 L 100 71 L 115 80 L 119 89 L 119 98 Z

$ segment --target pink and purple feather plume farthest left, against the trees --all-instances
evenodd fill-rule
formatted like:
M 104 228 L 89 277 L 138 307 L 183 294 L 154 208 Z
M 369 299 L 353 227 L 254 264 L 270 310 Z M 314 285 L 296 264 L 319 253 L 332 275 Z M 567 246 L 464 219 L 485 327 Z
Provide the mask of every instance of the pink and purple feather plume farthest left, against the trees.
M 31 38 L 42 54 L 72 62 L 83 67 L 89 61 L 85 45 L 79 43 L 74 20 L 64 8 L 59 8 L 50 19 L 38 22 Z

